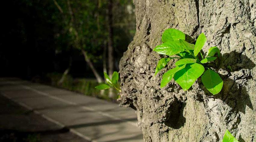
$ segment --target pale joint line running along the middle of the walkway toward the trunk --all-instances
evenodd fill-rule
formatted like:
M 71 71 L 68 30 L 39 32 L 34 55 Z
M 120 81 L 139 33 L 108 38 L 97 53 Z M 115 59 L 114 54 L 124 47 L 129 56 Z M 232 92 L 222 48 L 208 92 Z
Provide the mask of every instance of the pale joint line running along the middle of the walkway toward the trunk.
M 36 89 L 34 89 L 34 88 L 32 88 L 32 87 L 29 87 L 29 86 L 27 86 L 27 85 L 20 85 L 20 86 L 22 86 L 22 87 L 25 88 L 25 89 L 29 89 L 29 90 L 31 90 L 31 91 L 34 91 L 34 92 L 36 92 L 36 93 L 38 93 L 38 94 L 41 94 L 41 95 L 43 95 L 43 96 L 50 97 L 50 98 L 52 98 L 52 99 L 55 99 L 55 100 L 58 100 L 58 101 L 67 103 L 67 104 L 69 104 L 69 105 L 77 106 L 77 104 L 74 103 L 74 102 L 71 102 L 71 101 L 68 101 L 68 100 L 64 100 L 64 99 L 58 98 L 58 97 L 56 97 L 56 96 L 47 94 L 47 93 L 45 93 L 45 92 L 36 90 Z M 89 107 L 87 107 L 87 106 L 80 106 L 80 107 L 82 107 L 83 109 L 86 109 L 86 110 L 88 110 L 88 111 L 96 112 L 96 113 L 101 114 L 101 115 L 103 115 L 103 116 L 107 116 L 107 117 L 112 118 L 112 119 L 114 119 L 114 120 L 120 120 L 120 118 L 115 117 L 115 116 L 113 116 L 113 115 L 111 115 L 111 114 L 108 114 L 108 113 L 105 113 L 105 112 L 101 112 L 101 111 L 97 111 L 97 110 L 92 109 L 92 108 L 89 108 Z M 127 121 L 127 123 L 129 123 L 129 124 L 131 124 L 131 125 L 137 127 L 137 124 L 134 123 L 134 122 Z

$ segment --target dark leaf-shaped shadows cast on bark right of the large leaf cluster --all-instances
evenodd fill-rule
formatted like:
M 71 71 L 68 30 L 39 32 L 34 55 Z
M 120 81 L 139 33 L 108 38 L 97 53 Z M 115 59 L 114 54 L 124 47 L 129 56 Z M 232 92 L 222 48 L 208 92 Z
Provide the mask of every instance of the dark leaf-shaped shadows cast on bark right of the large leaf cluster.
M 248 85 L 248 80 L 252 78 L 249 70 L 254 68 L 255 64 L 247 56 L 232 51 L 223 54 L 216 62 L 208 63 L 208 67 L 221 68 L 227 75 L 221 75 L 223 88 L 219 94 L 212 96 L 202 85 L 206 94 L 223 100 L 233 108 L 234 112 L 245 113 L 246 106 L 254 109 L 245 86 Z

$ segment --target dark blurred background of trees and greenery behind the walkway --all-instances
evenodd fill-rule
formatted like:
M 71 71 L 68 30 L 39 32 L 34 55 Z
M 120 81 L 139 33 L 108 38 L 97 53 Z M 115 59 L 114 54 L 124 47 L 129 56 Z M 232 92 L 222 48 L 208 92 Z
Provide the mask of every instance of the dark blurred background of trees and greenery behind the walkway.
M 132 0 L 1 2 L 1 77 L 18 77 L 105 100 L 94 87 L 119 71 L 135 33 Z

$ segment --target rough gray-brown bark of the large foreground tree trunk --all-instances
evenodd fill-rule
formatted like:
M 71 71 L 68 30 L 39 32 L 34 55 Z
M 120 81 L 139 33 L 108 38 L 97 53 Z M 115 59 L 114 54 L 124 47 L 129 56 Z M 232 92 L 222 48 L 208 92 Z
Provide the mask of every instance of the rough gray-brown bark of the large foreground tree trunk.
M 256 142 L 256 1 L 134 0 L 136 34 L 120 61 L 121 105 L 136 110 L 145 142 L 218 142 L 226 129 L 240 142 Z M 196 39 L 205 33 L 206 53 L 221 50 L 212 64 L 224 80 L 214 96 L 201 79 L 188 91 L 173 80 L 160 88 L 153 51 L 164 30 L 175 28 Z M 229 67 L 231 69 L 229 69 Z

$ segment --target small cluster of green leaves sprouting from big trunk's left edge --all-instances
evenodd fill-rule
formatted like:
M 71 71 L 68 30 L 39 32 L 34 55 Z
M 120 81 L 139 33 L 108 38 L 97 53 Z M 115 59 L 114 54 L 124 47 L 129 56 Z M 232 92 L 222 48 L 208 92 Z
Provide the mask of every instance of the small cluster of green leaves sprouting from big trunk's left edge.
M 109 88 L 114 88 L 117 91 L 121 92 L 121 88 L 120 85 L 118 83 L 119 80 L 119 74 L 118 72 L 114 71 L 114 73 L 112 74 L 112 78 L 110 79 L 110 77 L 108 76 L 107 73 L 104 72 L 104 77 L 105 77 L 105 81 L 106 83 L 100 84 L 98 86 L 96 86 L 96 89 L 99 90 L 105 90 L 105 89 L 109 89 Z

